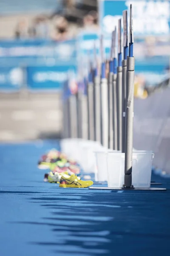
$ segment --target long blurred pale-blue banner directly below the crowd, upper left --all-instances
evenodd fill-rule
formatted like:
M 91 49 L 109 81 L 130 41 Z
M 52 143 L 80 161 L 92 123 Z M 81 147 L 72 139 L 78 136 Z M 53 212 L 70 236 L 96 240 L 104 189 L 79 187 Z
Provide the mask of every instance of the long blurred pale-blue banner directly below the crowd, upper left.
M 4 40 L 0 41 L 0 57 L 56 57 L 68 60 L 77 57 L 76 40 Z

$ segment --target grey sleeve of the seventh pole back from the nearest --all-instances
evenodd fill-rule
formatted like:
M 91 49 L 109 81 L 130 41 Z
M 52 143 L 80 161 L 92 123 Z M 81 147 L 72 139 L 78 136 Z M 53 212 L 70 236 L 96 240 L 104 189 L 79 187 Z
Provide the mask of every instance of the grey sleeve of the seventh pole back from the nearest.
M 101 143 L 101 105 L 100 105 L 100 78 L 94 78 L 94 111 L 95 111 L 95 140 Z

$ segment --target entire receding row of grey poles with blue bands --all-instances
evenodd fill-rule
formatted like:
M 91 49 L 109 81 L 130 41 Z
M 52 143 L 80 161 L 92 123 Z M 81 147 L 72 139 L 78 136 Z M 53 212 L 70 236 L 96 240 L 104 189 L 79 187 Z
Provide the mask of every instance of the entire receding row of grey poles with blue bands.
M 118 34 L 118 36 L 117 36 Z M 118 44 L 117 44 L 118 43 Z M 123 59 L 122 59 L 123 52 Z M 112 32 L 111 55 L 105 58 L 103 36 L 100 38 L 100 67 L 94 47 L 94 63 L 89 61 L 88 77 L 78 81 L 79 90 L 64 104 L 65 137 L 95 140 L 105 148 L 125 153 L 125 188 L 132 185 L 133 152 L 133 17 L 130 5 L 129 43 L 127 10 Z M 94 64 L 94 66 L 92 66 Z M 108 76 L 106 71 L 108 69 Z

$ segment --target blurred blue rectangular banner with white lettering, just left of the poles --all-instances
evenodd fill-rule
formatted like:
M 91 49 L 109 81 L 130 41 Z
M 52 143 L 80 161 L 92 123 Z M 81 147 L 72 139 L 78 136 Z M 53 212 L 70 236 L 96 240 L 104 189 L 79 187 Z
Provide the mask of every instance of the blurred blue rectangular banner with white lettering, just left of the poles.
M 27 67 L 27 84 L 31 90 L 61 90 L 68 79 L 68 70 L 76 65 Z

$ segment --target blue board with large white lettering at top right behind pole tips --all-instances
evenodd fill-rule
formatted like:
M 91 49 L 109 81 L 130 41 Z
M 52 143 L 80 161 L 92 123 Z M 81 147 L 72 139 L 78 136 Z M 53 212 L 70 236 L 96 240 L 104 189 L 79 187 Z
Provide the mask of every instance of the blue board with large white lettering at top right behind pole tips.
M 134 36 L 169 35 L 169 0 L 99 0 L 99 24 L 103 33 L 111 33 L 118 26 L 122 11 L 133 6 Z

